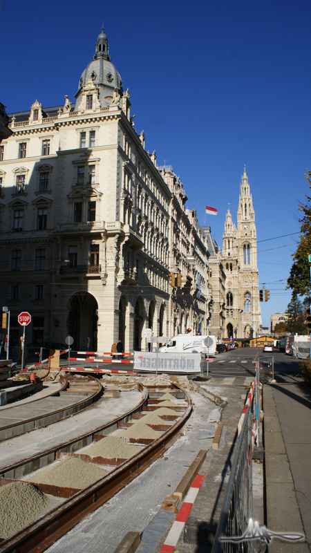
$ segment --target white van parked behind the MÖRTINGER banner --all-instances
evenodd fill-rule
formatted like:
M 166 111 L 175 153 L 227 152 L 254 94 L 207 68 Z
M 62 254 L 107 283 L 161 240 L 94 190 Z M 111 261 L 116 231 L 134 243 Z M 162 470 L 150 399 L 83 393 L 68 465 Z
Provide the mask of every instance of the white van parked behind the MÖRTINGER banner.
M 159 353 L 205 353 L 216 355 L 215 336 L 191 336 L 189 334 L 178 334 L 170 341 L 159 348 Z

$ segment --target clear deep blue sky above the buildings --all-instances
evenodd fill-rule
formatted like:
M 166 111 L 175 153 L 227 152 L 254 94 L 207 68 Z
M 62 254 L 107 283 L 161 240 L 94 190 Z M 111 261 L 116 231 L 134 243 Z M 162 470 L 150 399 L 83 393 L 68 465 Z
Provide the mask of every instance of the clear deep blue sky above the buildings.
M 290 301 L 297 207 L 311 169 L 310 0 L 2 0 L 0 101 L 8 113 L 35 100 L 63 104 L 65 94 L 75 102 L 102 20 L 135 129 L 144 129 L 159 165 L 173 166 L 188 207 L 220 246 L 228 204 L 236 221 L 247 162 L 270 326 L 271 313 Z M 205 217 L 205 205 L 218 216 Z

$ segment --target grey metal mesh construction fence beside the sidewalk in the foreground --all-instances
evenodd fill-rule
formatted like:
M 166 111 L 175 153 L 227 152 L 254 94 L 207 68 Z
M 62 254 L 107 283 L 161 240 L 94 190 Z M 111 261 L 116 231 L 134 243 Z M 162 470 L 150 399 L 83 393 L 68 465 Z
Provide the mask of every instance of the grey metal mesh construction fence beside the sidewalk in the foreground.
M 236 456 L 229 476 L 211 553 L 251 553 L 252 541 L 230 541 L 243 536 L 252 518 L 252 411 L 247 406 Z

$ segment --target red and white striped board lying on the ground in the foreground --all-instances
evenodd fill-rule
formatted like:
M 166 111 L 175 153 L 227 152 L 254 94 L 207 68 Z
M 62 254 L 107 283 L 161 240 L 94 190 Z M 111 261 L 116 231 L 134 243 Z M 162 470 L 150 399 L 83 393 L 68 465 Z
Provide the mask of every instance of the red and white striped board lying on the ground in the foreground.
M 203 480 L 204 476 L 201 474 L 198 474 L 198 476 L 194 478 L 194 482 L 192 482 L 191 488 L 189 489 L 187 496 L 180 507 L 180 512 L 176 516 L 169 534 L 167 534 L 167 538 L 161 547 L 160 553 L 173 553 L 175 551 L 176 545 L 178 544 L 182 530 L 185 528 L 185 524 L 187 523 L 188 516 L 194 505 L 194 501 L 196 500 L 196 496 L 198 495 L 198 491 Z

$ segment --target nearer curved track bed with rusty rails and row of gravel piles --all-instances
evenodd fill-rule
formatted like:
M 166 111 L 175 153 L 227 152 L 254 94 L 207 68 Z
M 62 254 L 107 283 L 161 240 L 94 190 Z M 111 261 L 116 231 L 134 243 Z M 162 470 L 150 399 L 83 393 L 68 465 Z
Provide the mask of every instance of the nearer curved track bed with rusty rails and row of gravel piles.
M 140 404 L 117 420 L 1 469 L 1 552 L 46 550 L 178 437 L 192 409 L 187 393 L 174 384 L 138 387 Z M 19 519 L 15 527 L 14 518 Z

